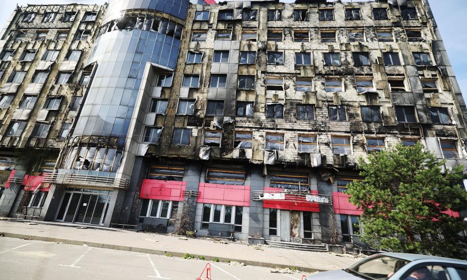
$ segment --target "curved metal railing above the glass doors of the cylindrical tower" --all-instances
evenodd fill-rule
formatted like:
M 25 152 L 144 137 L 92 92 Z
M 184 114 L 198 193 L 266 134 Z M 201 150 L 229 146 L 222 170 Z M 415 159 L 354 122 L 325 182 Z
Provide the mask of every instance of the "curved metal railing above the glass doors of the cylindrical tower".
M 130 183 L 127 179 L 70 173 L 49 173 L 44 176 L 43 182 L 120 189 L 127 189 Z

